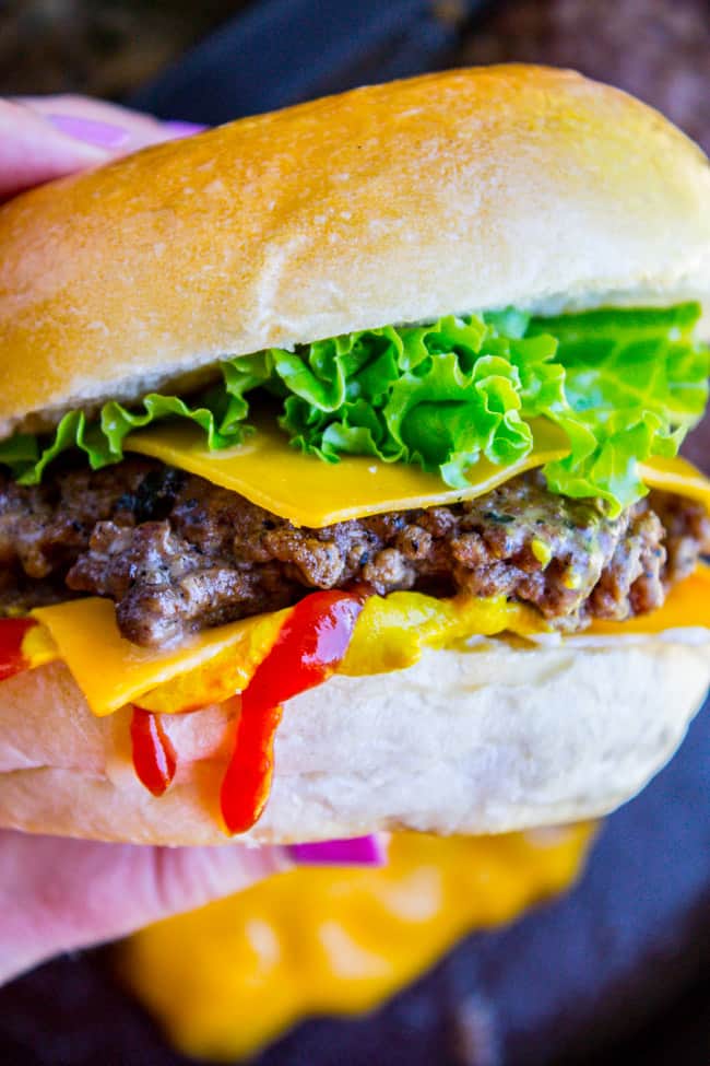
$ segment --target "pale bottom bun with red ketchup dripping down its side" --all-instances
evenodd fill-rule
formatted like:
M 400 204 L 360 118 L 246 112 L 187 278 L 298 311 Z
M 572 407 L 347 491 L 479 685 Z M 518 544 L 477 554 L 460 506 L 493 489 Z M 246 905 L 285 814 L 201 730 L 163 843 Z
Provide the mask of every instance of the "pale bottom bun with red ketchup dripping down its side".
M 605 813 L 681 742 L 710 681 L 710 634 L 484 642 L 406 670 L 331 678 L 284 707 L 273 790 L 239 841 L 377 830 L 497 833 Z M 0 686 L 0 825 L 150 844 L 224 843 L 225 706 L 163 718 L 178 757 L 154 798 L 134 775 L 129 712 L 95 718 L 66 667 Z

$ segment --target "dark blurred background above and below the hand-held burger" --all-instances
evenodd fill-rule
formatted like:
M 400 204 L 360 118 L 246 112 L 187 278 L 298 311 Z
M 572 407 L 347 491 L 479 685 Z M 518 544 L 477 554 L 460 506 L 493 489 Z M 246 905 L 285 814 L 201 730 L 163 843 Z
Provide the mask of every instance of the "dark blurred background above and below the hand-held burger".
M 708 0 L 0 0 L 0 94 L 85 93 L 206 124 L 508 60 L 619 85 L 710 150 Z M 709 444 L 706 425 L 688 448 L 706 468 Z M 709 718 L 607 821 L 570 895 L 469 938 L 372 1019 L 308 1022 L 260 1062 L 707 1066 Z M 96 952 L 0 992 L 0 1062 L 187 1059 Z

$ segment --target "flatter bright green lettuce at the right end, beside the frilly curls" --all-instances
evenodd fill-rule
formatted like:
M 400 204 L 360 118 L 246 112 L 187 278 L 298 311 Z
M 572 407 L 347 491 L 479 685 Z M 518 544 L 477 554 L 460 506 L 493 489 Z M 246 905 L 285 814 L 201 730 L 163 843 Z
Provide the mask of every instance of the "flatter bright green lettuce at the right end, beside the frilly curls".
M 526 336 L 554 335 L 567 410 L 551 417 L 571 450 L 545 467 L 548 487 L 597 496 L 612 514 L 646 493 L 638 462 L 673 456 L 708 401 L 710 352 L 693 340 L 700 308 L 604 309 L 534 319 Z

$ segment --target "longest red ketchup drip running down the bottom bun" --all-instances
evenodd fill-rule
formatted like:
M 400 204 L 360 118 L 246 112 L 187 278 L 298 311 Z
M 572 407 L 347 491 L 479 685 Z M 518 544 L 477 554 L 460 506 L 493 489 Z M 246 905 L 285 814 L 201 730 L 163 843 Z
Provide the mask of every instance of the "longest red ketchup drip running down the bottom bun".
M 281 704 L 335 671 L 365 595 L 323 591 L 301 599 L 241 693 L 234 752 L 221 793 L 222 817 L 230 833 L 251 829 L 267 805 Z

